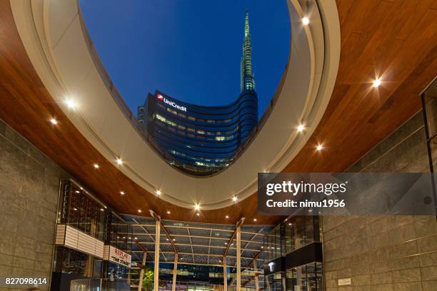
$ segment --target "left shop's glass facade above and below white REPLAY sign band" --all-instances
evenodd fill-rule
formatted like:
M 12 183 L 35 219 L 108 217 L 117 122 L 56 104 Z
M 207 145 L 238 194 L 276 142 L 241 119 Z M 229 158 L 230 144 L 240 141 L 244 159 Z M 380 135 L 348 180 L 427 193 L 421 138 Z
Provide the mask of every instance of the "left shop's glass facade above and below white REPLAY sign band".
M 99 203 L 87 190 L 72 180 L 61 182 L 57 223 L 69 225 L 112 245 L 123 252 L 131 252 L 131 228 L 114 212 Z M 86 252 L 56 245 L 51 290 L 64 290 L 71 280 L 104 278 L 109 282 L 125 282 L 129 267 L 110 262 Z

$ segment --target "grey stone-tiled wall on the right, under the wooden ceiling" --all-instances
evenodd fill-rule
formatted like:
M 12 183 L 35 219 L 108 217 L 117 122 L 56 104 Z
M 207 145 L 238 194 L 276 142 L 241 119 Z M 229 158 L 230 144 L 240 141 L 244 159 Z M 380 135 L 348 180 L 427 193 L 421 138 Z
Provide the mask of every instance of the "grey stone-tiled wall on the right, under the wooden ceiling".
M 348 172 L 428 172 L 418 113 Z M 437 290 L 437 222 L 428 216 L 323 217 L 327 291 Z M 352 285 L 338 286 L 351 277 Z

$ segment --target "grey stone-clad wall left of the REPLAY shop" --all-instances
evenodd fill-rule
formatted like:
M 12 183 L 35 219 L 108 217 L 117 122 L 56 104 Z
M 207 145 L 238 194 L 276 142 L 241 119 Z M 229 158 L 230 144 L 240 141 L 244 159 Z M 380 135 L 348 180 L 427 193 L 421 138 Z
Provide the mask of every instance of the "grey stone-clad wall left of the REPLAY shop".
M 0 120 L 0 277 L 49 280 L 60 178 L 67 173 Z

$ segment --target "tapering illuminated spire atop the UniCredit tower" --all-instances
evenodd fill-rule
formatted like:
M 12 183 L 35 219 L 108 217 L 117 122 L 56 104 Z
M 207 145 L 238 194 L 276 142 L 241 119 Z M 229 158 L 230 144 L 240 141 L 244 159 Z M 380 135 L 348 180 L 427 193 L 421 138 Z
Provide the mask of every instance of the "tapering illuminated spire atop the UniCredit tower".
M 255 91 L 255 78 L 252 74 L 252 44 L 248 11 L 244 20 L 243 56 L 241 57 L 241 92 Z

